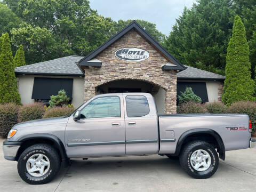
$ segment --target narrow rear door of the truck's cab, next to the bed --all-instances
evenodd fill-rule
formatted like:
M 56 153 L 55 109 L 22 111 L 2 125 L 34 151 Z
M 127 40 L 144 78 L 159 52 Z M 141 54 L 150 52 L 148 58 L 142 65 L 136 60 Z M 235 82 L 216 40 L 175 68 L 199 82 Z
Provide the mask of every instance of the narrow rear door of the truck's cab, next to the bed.
M 157 153 L 158 123 L 153 97 L 150 94 L 123 93 L 123 98 L 126 155 Z

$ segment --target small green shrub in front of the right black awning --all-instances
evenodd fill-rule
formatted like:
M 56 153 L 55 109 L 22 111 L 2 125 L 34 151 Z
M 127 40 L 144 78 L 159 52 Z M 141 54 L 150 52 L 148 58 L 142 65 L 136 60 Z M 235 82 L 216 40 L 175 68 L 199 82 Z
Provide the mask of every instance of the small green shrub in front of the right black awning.
M 184 92 L 180 92 L 180 95 L 178 95 L 179 99 L 179 105 L 186 102 L 201 102 L 202 99 L 199 98 L 192 90 L 191 87 L 186 87 L 186 90 Z

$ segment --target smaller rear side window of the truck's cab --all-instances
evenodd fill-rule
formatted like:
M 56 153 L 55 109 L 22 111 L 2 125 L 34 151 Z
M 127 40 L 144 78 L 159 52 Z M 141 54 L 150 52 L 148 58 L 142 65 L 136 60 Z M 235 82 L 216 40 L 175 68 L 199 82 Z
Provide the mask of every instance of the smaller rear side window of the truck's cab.
M 128 117 L 142 117 L 149 114 L 148 100 L 145 96 L 126 96 L 126 111 Z

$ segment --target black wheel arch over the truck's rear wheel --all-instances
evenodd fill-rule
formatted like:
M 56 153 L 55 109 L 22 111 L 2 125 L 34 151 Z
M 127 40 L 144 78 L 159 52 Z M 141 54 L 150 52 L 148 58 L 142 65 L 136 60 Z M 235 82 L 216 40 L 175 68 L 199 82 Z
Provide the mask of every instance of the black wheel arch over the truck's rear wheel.
M 186 144 L 186 141 L 191 139 L 191 140 L 195 140 L 193 138 L 199 138 L 198 140 L 200 140 L 200 138 L 202 139 L 203 137 L 210 137 L 210 138 L 214 138 L 214 141 L 217 144 L 217 151 L 219 153 L 219 156 L 221 159 L 225 160 L 225 145 L 220 137 L 220 135 L 211 129 L 206 129 L 206 128 L 199 128 L 199 129 L 192 129 L 192 130 L 188 130 L 184 133 L 182 133 L 182 135 L 180 136 L 178 142 L 177 142 L 177 147 L 175 150 L 174 155 L 178 156 L 180 154 L 180 151 L 182 149 L 182 147 Z M 205 140 L 204 138 L 202 140 Z M 205 140 L 207 142 L 207 140 Z

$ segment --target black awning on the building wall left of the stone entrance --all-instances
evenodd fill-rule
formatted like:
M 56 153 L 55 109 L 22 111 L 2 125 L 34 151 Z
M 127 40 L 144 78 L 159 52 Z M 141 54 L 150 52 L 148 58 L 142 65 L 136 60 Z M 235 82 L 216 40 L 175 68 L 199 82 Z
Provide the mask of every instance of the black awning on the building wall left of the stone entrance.
M 67 97 L 72 99 L 73 78 L 35 77 L 31 99 L 50 99 L 63 89 Z

